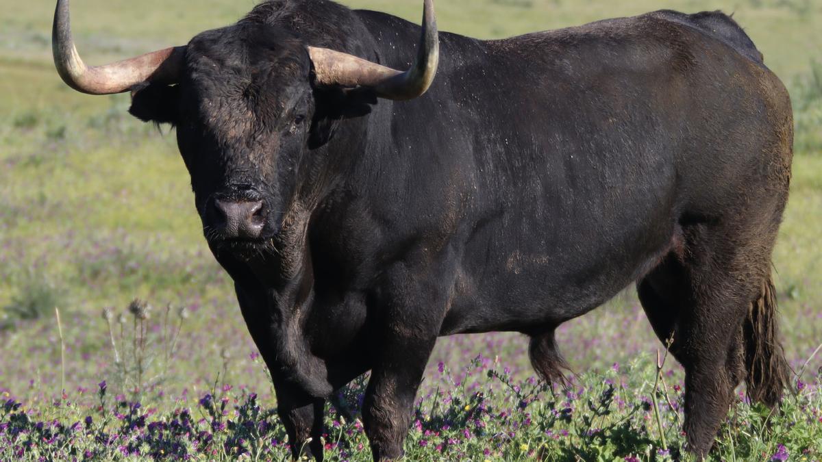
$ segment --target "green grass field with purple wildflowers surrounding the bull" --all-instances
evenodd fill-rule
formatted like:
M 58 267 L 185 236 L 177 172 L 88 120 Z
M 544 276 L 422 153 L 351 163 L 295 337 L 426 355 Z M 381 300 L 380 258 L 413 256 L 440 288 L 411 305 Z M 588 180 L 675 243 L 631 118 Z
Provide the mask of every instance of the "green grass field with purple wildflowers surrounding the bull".
M 345 3 L 418 21 L 422 2 Z M 72 22 L 86 61 L 100 63 L 184 44 L 253 4 L 75 0 Z M 441 30 L 482 38 L 663 7 L 735 13 L 786 82 L 796 111 L 792 196 L 774 269 L 787 353 L 803 374 L 780 415 L 741 399 L 713 457 L 822 459 L 822 354 L 806 363 L 822 343 L 822 2 L 438 0 L 436 7 Z M 284 458 L 267 372 L 201 236 L 173 134 L 131 118 L 127 95 L 90 97 L 62 84 L 51 62 L 52 2 L 0 0 L 0 11 L 0 460 L 183 452 L 231 459 L 245 451 Z M 134 298 L 153 306 L 148 319 L 127 311 Z M 579 375 L 572 390 L 553 395 L 533 381 L 520 335 L 442 339 L 419 396 L 409 459 L 680 453 L 681 371 L 668 358 L 665 383 L 656 380 L 660 345 L 632 290 L 562 326 L 559 343 Z M 361 394 L 362 383 L 348 391 L 354 408 Z M 367 441 L 358 421 L 330 413 L 327 430 L 332 460 L 370 460 L 359 449 Z

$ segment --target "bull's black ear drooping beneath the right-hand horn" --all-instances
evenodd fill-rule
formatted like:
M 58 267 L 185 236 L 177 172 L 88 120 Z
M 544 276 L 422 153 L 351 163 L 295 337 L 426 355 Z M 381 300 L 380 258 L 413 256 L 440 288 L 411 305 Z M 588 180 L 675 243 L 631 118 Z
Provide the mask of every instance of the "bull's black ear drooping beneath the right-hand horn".
M 371 113 L 376 94 L 369 88 L 316 88 L 314 118 L 308 136 L 308 148 L 324 146 L 334 137 L 339 122 Z

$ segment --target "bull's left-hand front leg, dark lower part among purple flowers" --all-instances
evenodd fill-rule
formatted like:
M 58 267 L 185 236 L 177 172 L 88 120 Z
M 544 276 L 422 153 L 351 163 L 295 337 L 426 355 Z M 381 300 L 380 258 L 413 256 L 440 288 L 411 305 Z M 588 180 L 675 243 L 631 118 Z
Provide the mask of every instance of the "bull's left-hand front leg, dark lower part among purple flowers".
M 312 398 L 302 390 L 276 379 L 274 388 L 277 394 L 277 414 L 289 435 L 293 460 L 299 460 L 303 455 L 323 460 L 321 436 L 326 401 Z

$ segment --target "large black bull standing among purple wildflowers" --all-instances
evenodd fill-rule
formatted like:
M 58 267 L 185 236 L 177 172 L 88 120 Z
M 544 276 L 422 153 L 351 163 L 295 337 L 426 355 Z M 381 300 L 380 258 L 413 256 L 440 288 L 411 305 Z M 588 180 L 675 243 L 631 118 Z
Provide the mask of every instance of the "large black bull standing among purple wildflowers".
M 400 456 L 439 335 L 522 332 L 561 380 L 556 326 L 634 282 L 685 367 L 691 451 L 710 449 L 741 381 L 777 404 L 769 265 L 792 110 L 737 24 L 653 12 L 443 33 L 436 80 L 406 102 L 320 85 L 306 53 L 404 68 L 419 35 L 332 2 L 264 2 L 193 39 L 178 85 L 134 89 L 132 113 L 177 127 L 294 455 L 312 437 L 322 457 L 325 400 L 371 370 L 374 458 Z

